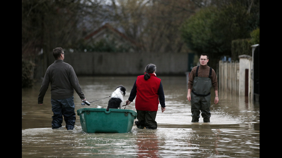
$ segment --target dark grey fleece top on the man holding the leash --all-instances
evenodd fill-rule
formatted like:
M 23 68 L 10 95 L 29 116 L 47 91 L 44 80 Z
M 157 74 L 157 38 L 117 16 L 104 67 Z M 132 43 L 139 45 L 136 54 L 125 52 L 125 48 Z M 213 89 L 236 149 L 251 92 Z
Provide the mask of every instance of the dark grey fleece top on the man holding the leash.
M 66 99 L 73 96 L 74 90 L 81 99 L 85 99 L 75 71 L 63 60 L 55 60 L 44 75 L 38 95 L 38 104 L 43 104 L 43 97 L 51 83 L 51 98 Z

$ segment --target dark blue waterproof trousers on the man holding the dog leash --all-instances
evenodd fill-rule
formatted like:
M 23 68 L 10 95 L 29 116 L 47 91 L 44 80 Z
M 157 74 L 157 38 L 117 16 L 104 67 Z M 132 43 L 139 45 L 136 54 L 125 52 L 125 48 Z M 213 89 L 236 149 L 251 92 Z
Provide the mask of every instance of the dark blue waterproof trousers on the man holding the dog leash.
M 66 99 L 51 99 L 52 104 L 52 128 L 62 127 L 63 116 L 66 122 L 66 129 L 72 130 L 75 126 L 75 104 L 73 96 Z

